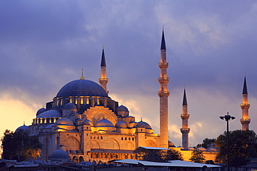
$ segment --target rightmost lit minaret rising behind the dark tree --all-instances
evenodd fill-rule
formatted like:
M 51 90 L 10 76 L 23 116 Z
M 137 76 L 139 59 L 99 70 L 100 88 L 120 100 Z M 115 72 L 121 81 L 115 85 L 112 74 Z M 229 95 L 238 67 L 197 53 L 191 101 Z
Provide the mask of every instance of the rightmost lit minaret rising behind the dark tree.
M 244 87 L 242 88 L 242 119 L 240 119 L 240 123 L 242 124 L 242 130 L 245 131 L 249 129 L 249 123 L 251 119 L 249 119 L 248 109 L 250 104 L 248 103 L 248 93 L 247 93 L 247 76 L 244 74 Z

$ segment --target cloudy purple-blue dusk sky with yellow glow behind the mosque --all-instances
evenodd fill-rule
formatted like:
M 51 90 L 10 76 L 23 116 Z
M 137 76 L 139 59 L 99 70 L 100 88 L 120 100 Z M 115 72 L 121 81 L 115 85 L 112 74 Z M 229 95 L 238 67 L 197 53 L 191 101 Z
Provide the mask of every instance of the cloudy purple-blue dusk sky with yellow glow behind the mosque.
M 190 146 L 241 129 L 247 73 L 257 132 L 256 1 L 0 1 L 0 134 L 31 125 L 63 85 L 98 82 L 104 44 L 109 95 L 159 133 L 160 38 L 169 62 L 169 140 L 181 145 L 183 87 Z

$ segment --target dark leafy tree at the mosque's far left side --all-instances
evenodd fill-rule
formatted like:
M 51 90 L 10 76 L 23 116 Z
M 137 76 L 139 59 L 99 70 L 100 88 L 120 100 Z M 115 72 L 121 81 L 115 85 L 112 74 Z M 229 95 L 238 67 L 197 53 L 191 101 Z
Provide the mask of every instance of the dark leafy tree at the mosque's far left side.
M 28 133 L 22 129 L 18 129 L 16 132 L 6 129 L 1 141 L 3 159 L 26 161 L 30 158 L 37 159 L 40 156 L 42 144 L 38 140 L 38 136 L 28 136 Z

